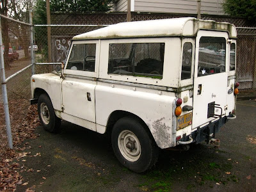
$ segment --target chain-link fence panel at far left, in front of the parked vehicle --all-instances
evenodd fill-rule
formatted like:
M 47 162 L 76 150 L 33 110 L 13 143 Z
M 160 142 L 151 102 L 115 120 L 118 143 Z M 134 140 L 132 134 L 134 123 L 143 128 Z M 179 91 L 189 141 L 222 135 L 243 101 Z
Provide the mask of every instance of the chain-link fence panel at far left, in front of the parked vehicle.
M 0 148 L 18 143 L 28 113 L 31 77 L 31 25 L 1 15 Z M 6 92 L 7 91 L 7 92 Z M 10 129 L 12 125 L 12 132 Z M 6 132 L 7 135 L 6 136 Z M 12 138 L 14 138 L 12 142 Z M 3 154 L 1 150 L 1 154 Z

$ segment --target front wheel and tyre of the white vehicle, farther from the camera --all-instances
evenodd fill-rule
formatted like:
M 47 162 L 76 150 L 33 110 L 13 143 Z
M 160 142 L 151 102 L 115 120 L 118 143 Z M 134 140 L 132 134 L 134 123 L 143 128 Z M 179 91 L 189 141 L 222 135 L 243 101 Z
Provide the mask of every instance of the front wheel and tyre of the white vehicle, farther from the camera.
M 60 132 L 61 119 L 55 115 L 51 99 L 46 94 L 40 95 L 38 99 L 38 116 L 45 131 Z

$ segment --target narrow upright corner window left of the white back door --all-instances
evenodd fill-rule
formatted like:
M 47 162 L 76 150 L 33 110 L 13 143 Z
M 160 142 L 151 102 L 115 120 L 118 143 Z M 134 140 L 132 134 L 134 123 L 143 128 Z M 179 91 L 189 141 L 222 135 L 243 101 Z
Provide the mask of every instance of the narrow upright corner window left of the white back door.
M 181 80 L 191 78 L 192 51 L 191 43 L 183 45 Z

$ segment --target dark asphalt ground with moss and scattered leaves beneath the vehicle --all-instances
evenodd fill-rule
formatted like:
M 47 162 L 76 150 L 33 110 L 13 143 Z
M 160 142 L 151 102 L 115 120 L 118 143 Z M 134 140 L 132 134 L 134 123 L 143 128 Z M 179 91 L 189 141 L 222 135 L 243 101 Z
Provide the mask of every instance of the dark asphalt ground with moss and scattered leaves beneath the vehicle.
M 220 148 L 161 150 L 156 166 L 141 174 L 118 163 L 105 135 L 68 122 L 61 134 L 38 126 L 40 136 L 24 141 L 15 160 L 22 175 L 17 191 L 256 191 L 255 116 L 255 100 L 237 102 L 236 120 L 217 135 Z

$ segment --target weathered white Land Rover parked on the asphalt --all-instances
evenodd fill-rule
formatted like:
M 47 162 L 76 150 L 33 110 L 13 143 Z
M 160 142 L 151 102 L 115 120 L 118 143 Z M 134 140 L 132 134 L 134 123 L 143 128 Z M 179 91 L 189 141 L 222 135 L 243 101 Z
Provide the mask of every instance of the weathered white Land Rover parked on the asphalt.
M 111 132 L 134 172 L 159 148 L 214 140 L 236 118 L 236 28 L 195 18 L 124 22 L 74 36 L 62 70 L 31 77 L 49 132 L 61 119 Z

